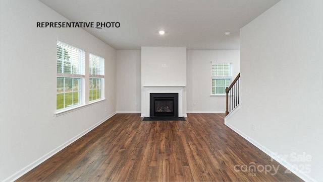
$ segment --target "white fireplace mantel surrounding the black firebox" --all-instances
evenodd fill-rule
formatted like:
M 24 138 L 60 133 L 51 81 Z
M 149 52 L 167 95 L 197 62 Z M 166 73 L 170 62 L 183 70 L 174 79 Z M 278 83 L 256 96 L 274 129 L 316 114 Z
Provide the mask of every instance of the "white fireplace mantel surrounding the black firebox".
M 185 86 L 143 86 L 141 117 L 150 116 L 150 93 L 178 93 L 178 117 L 183 117 L 183 88 Z

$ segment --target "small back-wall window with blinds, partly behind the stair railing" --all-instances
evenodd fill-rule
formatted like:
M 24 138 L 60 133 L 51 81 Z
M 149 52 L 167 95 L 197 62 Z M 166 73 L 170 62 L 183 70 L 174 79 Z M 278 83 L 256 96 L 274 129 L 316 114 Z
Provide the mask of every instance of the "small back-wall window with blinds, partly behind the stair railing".
M 231 84 L 232 63 L 212 62 L 212 95 L 225 95 Z

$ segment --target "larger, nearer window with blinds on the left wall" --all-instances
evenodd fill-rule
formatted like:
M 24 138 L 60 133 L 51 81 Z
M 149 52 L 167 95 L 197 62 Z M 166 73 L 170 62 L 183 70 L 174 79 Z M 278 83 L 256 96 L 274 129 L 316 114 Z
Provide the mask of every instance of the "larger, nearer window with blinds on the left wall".
M 81 80 L 84 77 L 85 52 L 57 41 L 57 110 L 75 107 L 82 103 Z

